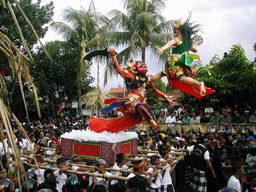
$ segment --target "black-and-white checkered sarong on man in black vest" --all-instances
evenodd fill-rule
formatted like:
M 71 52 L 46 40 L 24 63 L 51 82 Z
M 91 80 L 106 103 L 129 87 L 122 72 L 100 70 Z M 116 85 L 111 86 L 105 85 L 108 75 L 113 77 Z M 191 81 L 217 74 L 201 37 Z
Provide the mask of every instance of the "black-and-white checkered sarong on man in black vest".
M 193 168 L 194 177 L 193 181 L 190 183 L 190 187 L 196 191 L 206 192 L 206 174 L 202 170 Z

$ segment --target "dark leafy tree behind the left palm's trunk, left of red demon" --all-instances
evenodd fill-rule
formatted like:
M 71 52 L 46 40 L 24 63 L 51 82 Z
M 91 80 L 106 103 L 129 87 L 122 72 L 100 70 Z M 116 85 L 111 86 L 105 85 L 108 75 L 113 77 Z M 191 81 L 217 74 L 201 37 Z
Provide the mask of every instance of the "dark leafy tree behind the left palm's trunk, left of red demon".
M 65 41 L 49 42 L 46 47 L 51 52 L 54 63 L 50 63 L 49 58 L 45 57 L 41 47 L 38 48 L 37 53 L 34 55 L 37 65 L 31 66 L 30 70 L 34 83 L 38 87 L 38 95 L 43 98 L 40 101 L 40 109 L 45 116 L 49 115 L 49 109 L 54 104 L 53 93 L 56 87 L 65 87 L 63 92 L 68 96 L 68 102 L 77 99 L 76 68 L 74 68 L 73 63 L 77 59 L 77 50 L 71 49 L 68 46 L 69 44 Z M 53 47 L 58 47 L 58 49 L 50 51 Z M 90 75 L 88 68 L 87 76 L 81 79 L 82 94 L 92 89 L 90 84 L 93 81 L 94 78 Z M 45 102 L 45 98 L 49 98 L 49 102 Z M 33 105 L 31 105 L 30 111 L 33 110 Z

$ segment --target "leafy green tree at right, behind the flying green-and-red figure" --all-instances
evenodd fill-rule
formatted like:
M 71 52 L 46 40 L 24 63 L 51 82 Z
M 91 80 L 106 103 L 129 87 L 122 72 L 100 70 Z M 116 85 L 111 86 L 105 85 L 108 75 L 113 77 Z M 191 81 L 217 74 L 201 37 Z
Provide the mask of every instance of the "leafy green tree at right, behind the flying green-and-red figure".
M 250 101 L 255 103 L 256 71 L 241 45 L 233 45 L 226 59 L 214 57 L 210 61 L 212 75 L 199 72 L 197 78 L 216 93 L 201 99 L 201 102 L 220 102 L 233 105 L 234 102 L 243 104 Z M 187 101 L 198 101 L 192 96 L 185 95 Z M 199 101 L 200 102 L 200 101 Z

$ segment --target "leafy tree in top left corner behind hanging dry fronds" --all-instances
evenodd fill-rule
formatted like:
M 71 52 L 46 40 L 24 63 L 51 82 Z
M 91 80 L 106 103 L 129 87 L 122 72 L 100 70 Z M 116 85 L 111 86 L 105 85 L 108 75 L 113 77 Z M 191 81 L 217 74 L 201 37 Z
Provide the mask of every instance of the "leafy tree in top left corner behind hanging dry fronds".
M 37 44 L 37 39 L 33 35 L 33 31 L 26 24 L 26 20 L 23 15 L 20 13 L 17 5 L 14 1 L 10 1 L 11 7 L 16 15 L 17 22 L 20 25 L 20 28 L 23 32 L 23 36 L 28 44 L 29 49 L 32 49 L 35 44 Z M 53 2 L 46 4 L 45 6 L 40 6 L 40 1 L 32 3 L 31 0 L 20 0 L 19 5 L 22 7 L 23 11 L 28 16 L 31 24 L 33 25 L 39 38 L 43 38 L 48 31 L 48 27 L 45 24 L 48 24 L 52 21 L 53 16 Z M 9 36 L 10 40 L 15 46 L 21 48 L 22 41 L 20 40 L 16 26 L 14 25 L 13 17 L 9 9 L 0 7 L 0 31 Z

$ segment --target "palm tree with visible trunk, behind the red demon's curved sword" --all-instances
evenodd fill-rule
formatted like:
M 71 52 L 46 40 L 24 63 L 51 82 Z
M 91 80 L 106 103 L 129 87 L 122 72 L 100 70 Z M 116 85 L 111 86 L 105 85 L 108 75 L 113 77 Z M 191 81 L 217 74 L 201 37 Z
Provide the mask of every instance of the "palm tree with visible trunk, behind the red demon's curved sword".
M 106 47 L 106 40 L 100 35 L 108 30 L 109 19 L 95 13 L 91 5 L 87 11 L 68 7 L 63 10 L 62 16 L 69 25 L 57 22 L 51 26 L 63 36 L 70 49 L 77 50 L 73 64 L 77 69 L 77 99 L 81 109 L 81 78 L 86 77 L 86 69 L 90 67 L 90 63 L 81 58 L 88 50 Z

